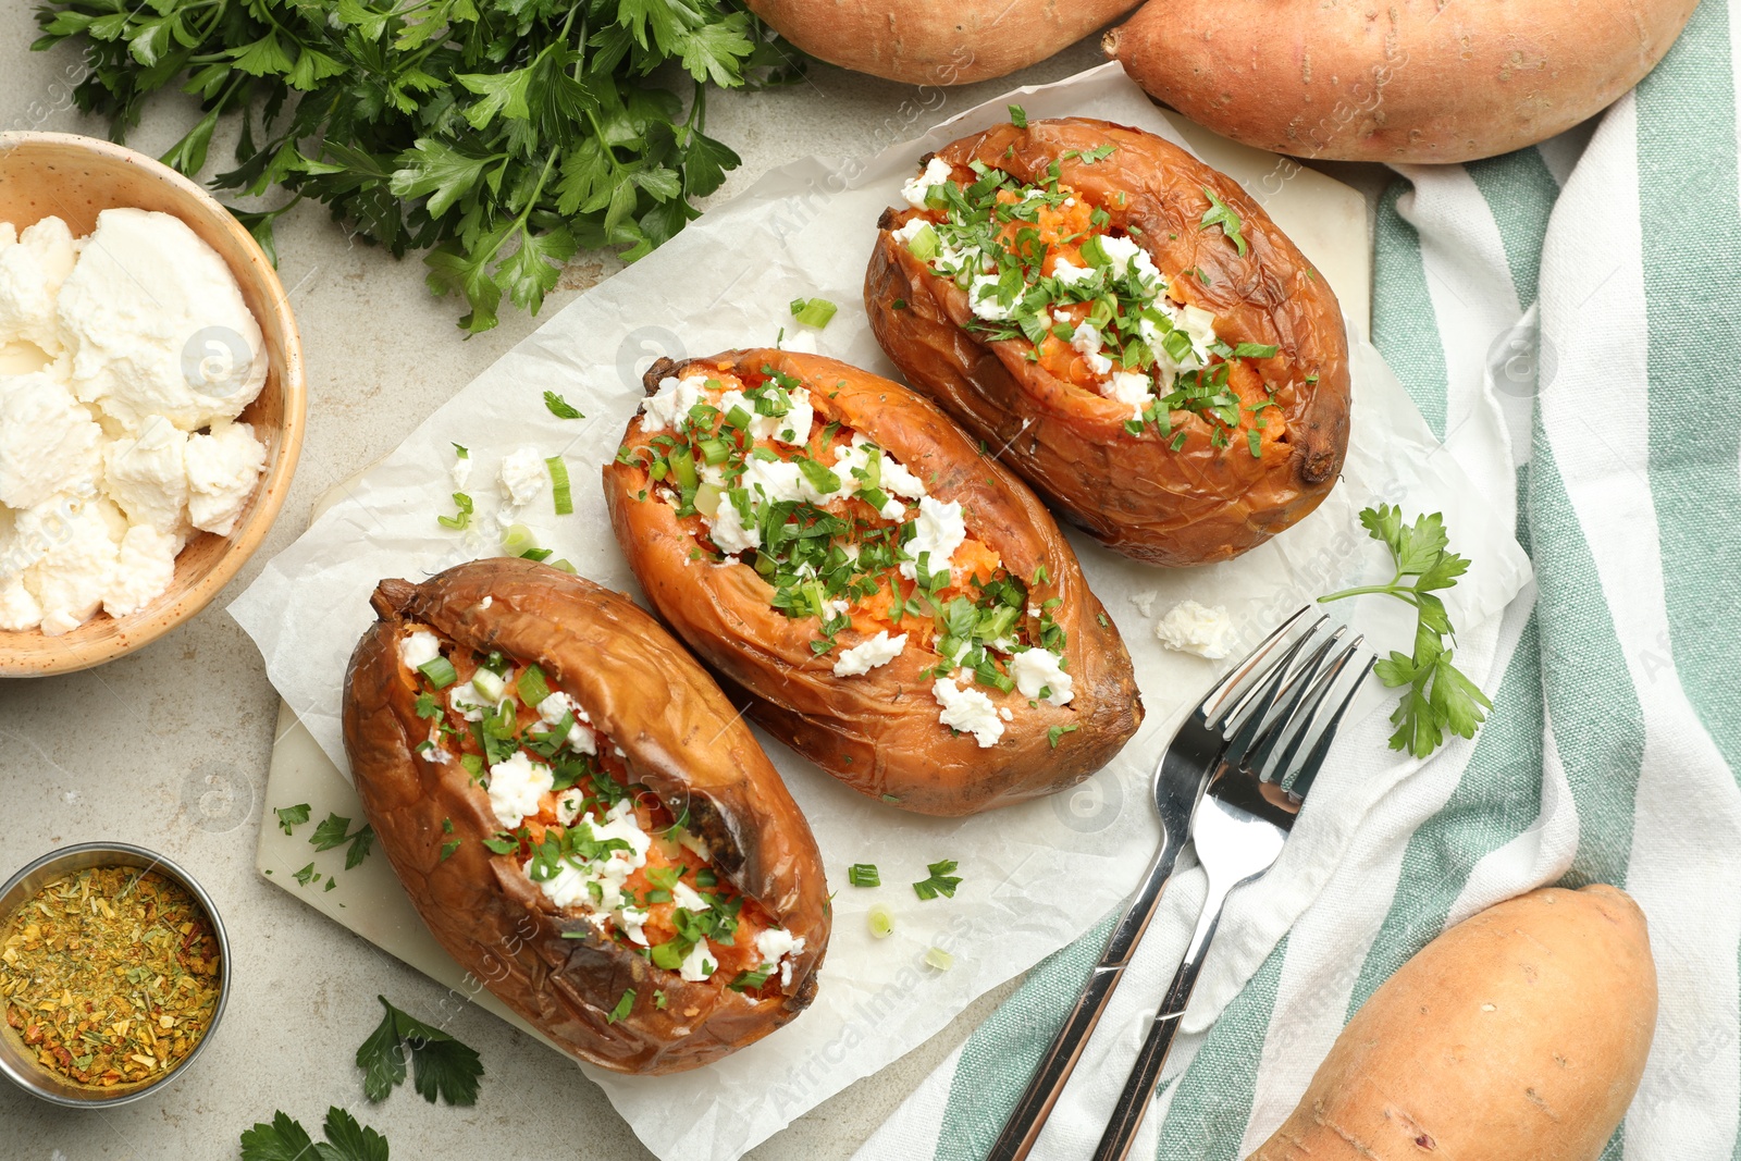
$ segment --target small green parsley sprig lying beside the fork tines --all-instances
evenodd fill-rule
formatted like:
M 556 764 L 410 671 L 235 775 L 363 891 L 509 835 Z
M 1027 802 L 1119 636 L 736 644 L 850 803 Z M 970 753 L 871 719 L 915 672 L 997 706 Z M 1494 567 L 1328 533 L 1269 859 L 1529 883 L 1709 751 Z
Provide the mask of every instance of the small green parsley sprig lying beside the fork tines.
M 1391 748 L 1426 757 L 1440 747 L 1447 729 L 1459 738 L 1473 738 L 1476 728 L 1487 721 L 1485 710 L 1494 707 L 1480 686 L 1452 665 L 1455 649 L 1447 639 L 1454 644 L 1455 630 L 1450 627 L 1445 602 L 1435 595 L 1436 590 L 1455 585 L 1457 578 L 1469 571 L 1469 560 L 1450 552 L 1445 517 L 1438 512 L 1414 524 L 1403 524 L 1402 508 L 1379 505 L 1363 510 L 1360 522 L 1374 540 L 1384 541 L 1391 550 L 1396 574 L 1388 585 L 1346 588 L 1318 601 L 1388 594 L 1415 607 L 1419 620 L 1414 656 L 1393 649 L 1391 656 L 1379 661 L 1372 672 L 1386 686 L 1403 689 L 1402 701 L 1391 714 L 1391 724 L 1396 726 Z M 1405 578 L 1414 580 L 1403 583 Z

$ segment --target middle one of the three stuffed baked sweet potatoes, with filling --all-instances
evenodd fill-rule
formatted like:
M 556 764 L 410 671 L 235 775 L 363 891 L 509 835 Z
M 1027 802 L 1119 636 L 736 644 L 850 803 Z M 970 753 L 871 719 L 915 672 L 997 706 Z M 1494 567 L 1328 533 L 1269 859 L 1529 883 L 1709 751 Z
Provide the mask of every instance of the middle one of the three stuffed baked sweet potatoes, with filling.
M 904 809 L 1050 794 L 1137 731 L 1130 654 L 1027 487 L 832 359 L 648 371 L 604 468 L 648 599 L 770 733 Z

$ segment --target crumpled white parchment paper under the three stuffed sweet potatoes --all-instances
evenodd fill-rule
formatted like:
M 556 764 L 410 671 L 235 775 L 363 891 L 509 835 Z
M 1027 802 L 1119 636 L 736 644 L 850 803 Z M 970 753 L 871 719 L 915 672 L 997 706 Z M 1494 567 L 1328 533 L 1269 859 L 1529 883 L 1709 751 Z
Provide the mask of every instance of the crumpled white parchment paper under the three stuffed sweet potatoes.
M 639 597 L 611 536 L 597 468 L 615 451 L 641 400 L 641 371 L 656 355 L 705 355 L 771 345 L 796 327 L 794 298 L 841 305 L 815 348 L 893 374 L 864 320 L 865 259 L 884 205 L 916 158 L 1006 117 L 1020 101 L 1031 117 L 1093 115 L 1140 125 L 1180 144 L 1166 118 L 1116 66 L 1043 89 L 1022 89 L 893 146 L 876 158 L 808 158 L 766 174 L 738 198 L 710 209 L 665 247 L 587 292 L 432 414 L 352 494 L 322 515 L 230 613 L 254 637 L 273 684 L 343 769 L 339 689 L 345 661 L 371 621 L 369 592 L 383 576 L 423 578 L 496 552 L 489 536 L 435 524 L 451 512 L 451 444 L 470 447 L 475 527 L 493 527 L 501 458 L 519 447 L 562 454 L 575 480 L 575 513 L 552 515 L 548 489 L 528 510 L 540 543 L 580 573 Z M 1320 259 L 1314 259 L 1320 261 Z M 763 736 L 822 844 L 836 926 L 817 1004 L 787 1029 L 712 1067 L 672 1077 L 622 1077 L 588 1069 L 641 1140 L 667 1161 L 729 1161 L 858 1077 L 876 1072 L 942 1029 L 977 996 L 1074 940 L 1135 882 L 1156 841 L 1147 782 L 1165 738 L 1217 667 L 1168 653 L 1154 618 L 1184 597 L 1226 606 L 1248 642 L 1311 597 L 1367 580 L 1388 580 L 1384 548 L 1365 538 L 1356 513 L 1379 500 L 1410 513 L 1443 512 L 1454 547 L 1475 567 L 1450 590 L 1459 627 L 1496 614 L 1529 580 L 1511 531 L 1494 520 L 1482 493 L 1435 442 L 1377 353 L 1353 334 L 1354 426 L 1344 479 L 1304 522 L 1229 564 L 1166 573 L 1116 557 L 1074 536 L 1092 587 L 1125 634 L 1147 705 L 1142 733 L 1107 769 L 1050 801 L 970 820 L 904 815 L 841 789 L 827 775 Z M 557 419 L 541 393 L 555 390 L 585 419 Z M 1153 597 L 1153 601 L 1151 601 Z M 1149 604 L 1146 616 L 1142 604 Z M 1381 648 L 1408 648 L 1412 620 L 1400 602 L 1363 599 L 1334 606 L 1354 614 Z M 1372 693 L 1368 705 L 1389 705 Z M 1374 801 L 1412 766 L 1384 778 L 1337 776 L 1332 757 L 1290 863 L 1334 865 L 1341 842 Z M 1370 764 L 1368 764 L 1370 768 Z M 909 882 L 942 858 L 961 863 L 954 900 L 919 902 Z M 884 886 L 848 886 L 846 867 L 872 862 Z M 1321 882 L 1321 876 L 1311 876 Z M 897 931 L 872 940 L 865 912 L 895 910 Z M 924 966 L 926 949 L 954 956 L 951 971 Z M 1213 964 L 1212 964 L 1213 968 Z M 1208 975 L 1205 983 L 1208 983 Z

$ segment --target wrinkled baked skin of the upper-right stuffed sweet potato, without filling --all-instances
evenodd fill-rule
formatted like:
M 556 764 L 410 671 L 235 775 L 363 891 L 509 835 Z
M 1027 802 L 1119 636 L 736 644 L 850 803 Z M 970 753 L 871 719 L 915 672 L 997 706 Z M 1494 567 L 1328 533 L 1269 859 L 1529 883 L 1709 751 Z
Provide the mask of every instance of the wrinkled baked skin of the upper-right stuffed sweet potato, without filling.
M 1071 150 L 1111 143 L 1106 160 L 1060 160 Z M 1022 179 L 1059 160 L 1060 179 L 1095 198 L 1170 277 L 1186 301 L 1215 313 L 1229 343 L 1278 345 L 1257 360 L 1288 423 L 1288 442 L 1262 458 L 1243 447 L 1212 447 L 1194 435 L 1172 451 L 1153 432 L 1125 432 L 1130 409 L 1100 399 L 1025 360 L 1025 343 L 982 343 L 963 325 L 966 292 L 938 279 L 879 223 L 865 273 L 870 327 L 907 381 L 940 402 L 1052 505 L 1128 557 L 1163 566 L 1208 564 L 1247 552 L 1287 529 L 1328 494 L 1348 453 L 1348 336 L 1335 292 L 1299 249 L 1229 178 L 1154 134 L 1090 118 L 996 125 L 938 150 Z M 1203 230 L 1203 190 L 1240 214 L 1241 258 L 1219 228 Z M 1118 195 L 1125 204 L 1118 205 Z M 1309 376 L 1316 376 L 1307 381 Z

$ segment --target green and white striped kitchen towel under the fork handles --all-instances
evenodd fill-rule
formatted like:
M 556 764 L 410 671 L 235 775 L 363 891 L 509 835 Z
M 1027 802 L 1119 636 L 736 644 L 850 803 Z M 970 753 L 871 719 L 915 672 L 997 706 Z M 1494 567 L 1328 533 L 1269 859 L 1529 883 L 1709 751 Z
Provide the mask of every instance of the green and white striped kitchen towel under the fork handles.
M 1361 822 L 1243 989 L 1198 989 L 1135 1156 L 1243 1158 L 1447 924 L 1602 881 L 1647 912 L 1663 997 L 1603 1159 L 1741 1161 L 1738 37 L 1741 0 L 1706 0 L 1593 125 L 1402 167 L 1384 197 L 1374 341 L 1449 454 L 1515 513 L 1537 590 L 1462 642 L 1459 663 L 1489 661 L 1480 736 Z M 1180 872 L 1036 1158 L 1074 1161 L 1099 1140 L 1198 898 L 1200 872 Z M 1039 964 L 860 1161 L 982 1158 L 1106 931 Z M 1240 938 L 1224 924 L 1219 940 Z

